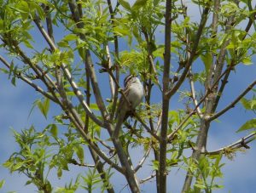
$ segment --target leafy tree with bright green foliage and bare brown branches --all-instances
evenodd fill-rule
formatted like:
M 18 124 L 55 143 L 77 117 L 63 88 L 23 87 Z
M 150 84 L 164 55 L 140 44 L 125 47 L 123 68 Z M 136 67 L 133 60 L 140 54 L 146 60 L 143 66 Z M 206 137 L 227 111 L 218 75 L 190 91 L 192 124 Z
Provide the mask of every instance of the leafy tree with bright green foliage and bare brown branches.
M 1 49 L 7 53 L 0 55 L 1 71 L 14 85 L 20 79 L 41 94 L 34 106 L 45 117 L 51 105 L 61 108 L 43 131 L 32 126 L 14 132 L 20 151 L 3 165 L 25 174 L 26 184 L 43 192 L 91 192 L 98 186 L 114 192 L 111 178 L 119 173 L 131 192 L 140 192 L 140 184 L 155 179 L 157 192 L 165 193 L 168 174 L 183 166 L 183 192 L 212 192 L 221 188 L 214 180 L 222 177 L 222 157 L 247 149 L 255 138 L 255 119 L 245 120 L 238 132 L 250 129 L 247 136 L 207 151 L 212 121 L 240 101 L 247 111 L 256 109 L 255 80 L 228 105 L 220 105 L 227 83 L 232 84 L 230 76 L 238 66 L 251 65 L 255 54 L 251 1 L 193 1 L 189 6 L 200 11 L 195 21 L 183 0 L 0 2 Z M 161 30 L 164 43 L 159 41 Z M 143 81 L 145 99 L 114 138 L 119 95 L 125 96 L 119 82 L 129 73 Z M 157 94 L 160 103 L 154 103 Z M 184 102 L 174 111 L 177 95 Z M 64 133 L 59 132 L 62 128 Z M 137 165 L 135 147 L 144 149 Z M 88 155 L 84 159 L 84 150 L 90 151 L 94 164 L 88 164 Z M 152 174 L 138 179 L 147 160 Z M 49 171 L 56 169 L 61 178 L 71 164 L 86 167 L 87 175 L 56 190 Z

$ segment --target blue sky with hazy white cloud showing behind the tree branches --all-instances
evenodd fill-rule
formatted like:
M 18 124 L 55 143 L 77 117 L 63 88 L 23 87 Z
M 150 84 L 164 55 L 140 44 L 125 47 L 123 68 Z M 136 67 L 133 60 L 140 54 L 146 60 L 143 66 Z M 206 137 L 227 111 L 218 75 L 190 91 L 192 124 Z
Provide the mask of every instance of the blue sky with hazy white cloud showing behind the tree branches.
M 194 8 L 191 10 L 195 10 Z M 196 20 L 196 15 L 195 15 Z M 59 31 L 60 32 L 60 31 Z M 37 31 L 33 31 L 37 33 Z M 63 35 L 63 34 L 62 34 Z M 61 36 L 59 36 L 61 38 Z M 160 35 L 159 41 L 163 37 Z M 42 46 L 41 39 L 35 45 L 40 48 Z M 121 49 L 128 48 L 125 43 L 121 44 Z M 0 51 L 0 54 L 3 54 Z M 254 59 L 253 62 L 256 60 Z M 201 64 L 198 64 L 201 65 Z M 3 67 L 0 64 L 0 67 Z M 255 76 L 255 65 L 239 65 L 236 71 L 232 72 L 230 76 L 230 83 L 227 85 L 223 99 L 220 101 L 220 106 L 228 105 L 232 99 L 236 98 L 237 94 L 247 87 L 247 84 L 252 82 Z M 100 77 L 100 81 L 101 81 Z M 102 85 L 102 88 L 104 86 Z M 104 92 L 105 93 L 105 92 Z M 250 94 L 249 94 L 250 95 Z M 178 96 L 178 94 L 177 94 Z M 171 110 L 175 110 L 179 105 L 177 101 L 177 96 L 171 101 Z M 32 109 L 32 103 L 35 99 L 38 99 L 39 94 L 37 94 L 33 88 L 30 88 L 24 82 L 17 82 L 17 87 L 14 87 L 8 76 L 0 73 L 0 163 L 6 161 L 10 154 L 15 150 L 18 150 L 18 146 L 15 144 L 15 139 L 13 138 L 13 133 L 10 128 L 15 128 L 15 130 L 20 131 L 22 128 L 29 128 L 32 124 L 38 130 L 44 129 L 44 127 L 51 122 L 50 117 L 55 116 L 60 110 L 58 108 L 51 108 L 49 111 L 49 120 L 45 120 L 44 116 L 34 109 L 32 115 L 29 113 Z M 155 97 L 154 100 L 158 101 L 160 97 Z M 229 145 L 242 136 L 247 135 L 247 132 L 236 133 L 236 130 L 241 127 L 241 125 L 255 117 L 253 113 L 245 111 L 240 104 L 236 105 L 235 108 L 231 109 L 228 113 L 222 116 L 218 121 L 213 122 L 208 138 L 208 150 L 215 150 L 224 145 Z M 224 179 L 220 179 L 222 184 L 224 184 L 224 189 L 216 190 L 214 192 L 254 192 L 256 190 L 256 141 L 250 144 L 251 149 L 244 153 L 237 153 L 233 161 L 224 158 L 226 165 L 224 166 Z M 135 156 L 141 156 L 143 150 L 134 150 L 131 152 Z M 141 169 L 139 176 L 142 178 L 147 177 L 150 166 L 147 162 L 146 166 Z M 63 173 L 63 179 L 59 180 L 56 178 L 55 173 L 50 175 L 50 179 L 53 180 L 53 185 L 55 187 L 65 185 L 65 181 L 74 179 L 77 173 L 80 173 L 81 169 L 79 167 L 71 167 L 69 173 Z M 3 185 L 1 192 L 8 192 L 11 190 L 16 190 L 20 193 L 25 192 L 35 192 L 36 188 L 33 185 L 27 185 L 26 177 L 24 175 L 13 173 L 10 174 L 9 171 L 0 166 L 0 180 L 5 179 L 6 183 Z M 173 171 L 168 179 L 168 192 L 180 192 L 181 186 L 184 180 L 184 171 L 182 169 Z M 119 176 L 114 176 L 113 183 L 116 184 L 117 190 L 125 185 L 123 184 L 123 179 Z M 154 181 L 149 184 L 143 184 L 142 188 L 144 192 L 154 192 Z M 82 192 L 82 191 L 78 191 Z M 128 189 L 124 189 L 122 192 L 129 192 Z

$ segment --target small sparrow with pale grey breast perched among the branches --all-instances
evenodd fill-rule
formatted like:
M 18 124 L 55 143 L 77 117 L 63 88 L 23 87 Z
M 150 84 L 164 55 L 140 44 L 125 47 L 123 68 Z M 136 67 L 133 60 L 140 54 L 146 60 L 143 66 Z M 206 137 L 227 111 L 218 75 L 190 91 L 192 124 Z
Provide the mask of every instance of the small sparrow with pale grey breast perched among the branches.
M 144 97 L 143 84 L 138 77 L 135 77 L 132 74 L 128 75 L 125 77 L 124 86 L 125 97 L 121 95 L 115 116 L 117 123 L 113 131 L 114 138 L 119 137 L 119 130 L 122 123 L 125 122 L 129 116 L 132 116 L 133 111 L 135 111 L 137 105 L 140 105 Z

